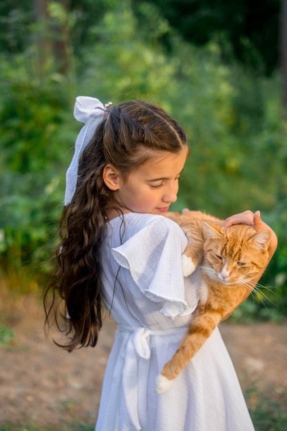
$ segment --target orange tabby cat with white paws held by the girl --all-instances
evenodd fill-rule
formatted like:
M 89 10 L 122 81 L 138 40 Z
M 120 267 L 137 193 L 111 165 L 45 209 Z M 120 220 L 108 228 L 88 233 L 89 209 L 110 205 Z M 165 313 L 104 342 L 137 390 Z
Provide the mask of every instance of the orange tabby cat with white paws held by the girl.
M 189 240 L 182 260 L 188 276 L 200 269 L 200 299 L 178 350 L 156 377 L 158 395 L 169 390 L 173 380 L 202 347 L 220 321 L 242 303 L 246 290 L 268 263 L 270 231 L 257 233 L 246 224 L 221 227 L 222 220 L 200 211 L 167 213 Z

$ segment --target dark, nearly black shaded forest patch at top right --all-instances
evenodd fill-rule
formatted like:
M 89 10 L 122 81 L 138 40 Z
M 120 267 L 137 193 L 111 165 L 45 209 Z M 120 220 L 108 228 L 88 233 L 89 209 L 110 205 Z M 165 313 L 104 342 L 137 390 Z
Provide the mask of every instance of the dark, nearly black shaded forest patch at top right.
M 228 0 L 148 0 L 184 38 L 198 46 L 215 37 L 224 58 L 230 50 L 254 70 L 270 74 L 278 64 L 280 0 L 260 2 Z M 133 0 L 139 6 L 140 0 Z

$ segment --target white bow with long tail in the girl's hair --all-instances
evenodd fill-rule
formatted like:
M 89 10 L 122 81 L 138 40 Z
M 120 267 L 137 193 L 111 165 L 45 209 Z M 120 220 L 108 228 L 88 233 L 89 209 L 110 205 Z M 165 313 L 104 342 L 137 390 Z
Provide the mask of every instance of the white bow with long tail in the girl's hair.
M 106 112 L 106 107 L 97 98 L 88 96 L 78 96 L 76 98 L 74 117 L 81 123 L 85 123 L 85 125 L 76 138 L 74 157 L 66 173 L 65 205 L 70 204 L 76 190 L 78 160 Z

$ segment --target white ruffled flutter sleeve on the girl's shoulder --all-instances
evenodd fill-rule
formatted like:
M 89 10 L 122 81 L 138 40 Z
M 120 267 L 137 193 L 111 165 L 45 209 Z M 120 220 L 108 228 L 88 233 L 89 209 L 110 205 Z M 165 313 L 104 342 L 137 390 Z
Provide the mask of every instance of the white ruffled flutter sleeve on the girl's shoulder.
M 169 317 L 182 315 L 187 308 L 182 275 L 182 253 L 187 237 L 178 224 L 157 218 L 112 249 L 114 258 L 151 301 L 162 302 L 160 313 Z

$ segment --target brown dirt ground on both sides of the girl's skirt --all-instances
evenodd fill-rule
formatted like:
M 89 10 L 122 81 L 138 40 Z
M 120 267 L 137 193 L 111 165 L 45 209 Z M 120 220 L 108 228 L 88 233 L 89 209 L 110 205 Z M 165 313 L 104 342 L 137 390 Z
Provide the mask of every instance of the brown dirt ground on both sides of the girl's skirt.
M 43 318 L 41 303 L 31 297 L 10 312 L 16 336 L 0 348 L 0 424 L 33 423 L 57 430 L 64 421 L 94 424 L 115 323 L 105 319 L 96 348 L 67 353 L 53 344 L 56 332 L 45 337 Z M 287 323 L 224 322 L 220 328 L 242 388 L 286 400 Z

